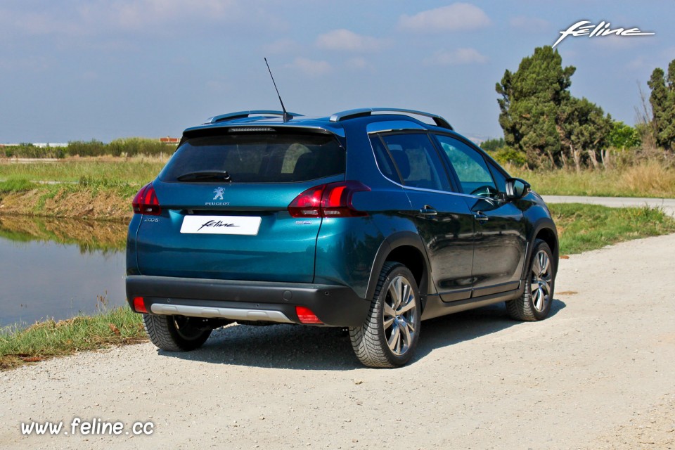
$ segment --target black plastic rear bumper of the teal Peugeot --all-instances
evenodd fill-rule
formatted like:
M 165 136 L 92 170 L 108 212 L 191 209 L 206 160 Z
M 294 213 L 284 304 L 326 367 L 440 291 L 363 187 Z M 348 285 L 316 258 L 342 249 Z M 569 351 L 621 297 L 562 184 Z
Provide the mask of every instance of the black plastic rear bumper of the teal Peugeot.
M 301 323 L 295 307 L 302 306 L 329 326 L 360 326 L 371 306 L 351 288 L 339 285 L 127 276 L 131 309 L 135 297 L 143 297 L 152 314 L 235 321 Z

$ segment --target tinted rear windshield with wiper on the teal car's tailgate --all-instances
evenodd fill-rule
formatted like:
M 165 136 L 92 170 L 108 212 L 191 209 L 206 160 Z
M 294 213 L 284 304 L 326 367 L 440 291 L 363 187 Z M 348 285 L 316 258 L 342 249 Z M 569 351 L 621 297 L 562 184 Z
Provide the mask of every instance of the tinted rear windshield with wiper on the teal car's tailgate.
M 292 183 L 345 173 L 345 149 L 323 134 L 226 134 L 188 139 L 160 173 L 162 181 Z M 192 177 L 190 174 L 200 174 Z

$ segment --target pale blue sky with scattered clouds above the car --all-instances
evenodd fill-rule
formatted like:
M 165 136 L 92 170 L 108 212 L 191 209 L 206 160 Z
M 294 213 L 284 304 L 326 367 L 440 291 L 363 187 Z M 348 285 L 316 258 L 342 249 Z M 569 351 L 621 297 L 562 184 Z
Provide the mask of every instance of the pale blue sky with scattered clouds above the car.
M 568 36 L 570 91 L 636 122 L 675 59 L 674 0 L 0 0 L 0 143 L 180 136 L 207 117 L 368 107 L 503 136 L 495 84 L 581 20 L 650 36 Z

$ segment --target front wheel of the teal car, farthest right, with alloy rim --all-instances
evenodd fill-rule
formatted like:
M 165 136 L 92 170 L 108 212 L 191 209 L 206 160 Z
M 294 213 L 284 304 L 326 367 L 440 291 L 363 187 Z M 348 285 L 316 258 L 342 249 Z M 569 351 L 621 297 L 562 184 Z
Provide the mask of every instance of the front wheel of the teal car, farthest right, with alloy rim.
M 541 239 L 534 241 L 532 259 L 527 268 L 525 290 L 522 295 L 506 302 L 506 311 L 518 321 L 541 321 L 546 319 L 553 303 L 555 266 L 553 253 Z

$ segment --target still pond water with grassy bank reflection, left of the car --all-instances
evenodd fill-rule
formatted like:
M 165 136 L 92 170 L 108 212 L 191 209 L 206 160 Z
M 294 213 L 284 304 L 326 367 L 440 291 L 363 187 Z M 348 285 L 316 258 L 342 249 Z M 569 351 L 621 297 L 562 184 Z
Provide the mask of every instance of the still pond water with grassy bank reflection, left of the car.
M 0 217 L 0 328 L 126 302 L 124 224 Z

